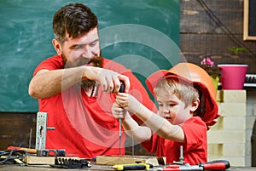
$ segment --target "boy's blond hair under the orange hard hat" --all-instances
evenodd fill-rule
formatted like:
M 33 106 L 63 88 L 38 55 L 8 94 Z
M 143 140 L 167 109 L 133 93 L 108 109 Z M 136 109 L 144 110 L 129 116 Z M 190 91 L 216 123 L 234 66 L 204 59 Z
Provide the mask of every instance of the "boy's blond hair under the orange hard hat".
M 193 87 L 192 83 L 186 83 L 174 78 L 164 78 L 158 82 L 154 88 L 154 94 L 159 91 L 175 94 L 179 100 L 182 100 L 185 106 L 190 105 L 195 100 L 199 99 L 199 92 Z

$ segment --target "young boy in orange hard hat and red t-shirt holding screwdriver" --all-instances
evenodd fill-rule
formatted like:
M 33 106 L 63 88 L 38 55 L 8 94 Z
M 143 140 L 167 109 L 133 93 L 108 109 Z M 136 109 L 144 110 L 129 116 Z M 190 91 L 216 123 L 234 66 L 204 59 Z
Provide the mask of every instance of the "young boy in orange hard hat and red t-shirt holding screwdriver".
M 143 142 L 149 152 L 166 157 L 167 163 L 179 161 L 181 145 L 184 162 L 207 162 L 207 123 L 218 117 L 211 77 L 199 66 L 180 63 L 169 71 L 155 72 L 147 85 L 158 102 L 157 114 L 131 94 L 116 96 L 113 116 L 122 119 L 126 134 Z M 127 111 L 146 126 L 139 126 Z

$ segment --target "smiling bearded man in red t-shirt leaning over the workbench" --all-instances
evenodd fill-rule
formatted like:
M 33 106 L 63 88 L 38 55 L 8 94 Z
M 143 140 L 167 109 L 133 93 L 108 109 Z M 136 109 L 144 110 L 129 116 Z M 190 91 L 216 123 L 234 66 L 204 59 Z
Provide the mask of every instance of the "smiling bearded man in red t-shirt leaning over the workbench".
M 102 58 L 96 15 L 81 3 L 59 9 L 53 19 L 57 54 L 42 61 L 33 73 L 29 94 L 38 99 L 38 111 L 48 113 L 47 149 L 65 149 L 69 156 L 92 158 L 119 154 L 119 121 L 111 106 L 125 83 L 152 111 L 150 100 L 131 70 Z M 125 154 L 125 133 L 121 154 Z

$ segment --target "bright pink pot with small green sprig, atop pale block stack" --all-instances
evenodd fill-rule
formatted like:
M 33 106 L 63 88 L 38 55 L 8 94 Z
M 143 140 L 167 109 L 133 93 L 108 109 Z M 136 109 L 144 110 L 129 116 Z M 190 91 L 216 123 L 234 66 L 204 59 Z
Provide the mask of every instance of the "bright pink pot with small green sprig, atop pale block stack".
M 228 48 L 233 54 L 235 54 L 235 60 L 239 58 L 238 53 L 240 51 L 247 51 L 246 48 Z M 221 76 L 221 84 L 223 89 L 243 89 L 246 73 L 247 73 L 247 65 L 241 64 L 222 64 L 218 65 L 222 76 Z

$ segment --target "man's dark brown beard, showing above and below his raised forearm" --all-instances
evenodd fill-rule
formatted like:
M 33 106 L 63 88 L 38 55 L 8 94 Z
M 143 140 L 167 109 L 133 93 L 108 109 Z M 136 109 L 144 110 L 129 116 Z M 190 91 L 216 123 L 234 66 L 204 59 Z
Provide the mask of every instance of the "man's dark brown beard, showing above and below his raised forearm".
M 67 57 L 62 54 L 62 60 L 65 64 L 65 68 L 72 68 L 77 66 L 96 66 L 102 68 L 102 56 L 94 56 L 90 59 L 87 58 L 79 58 L 78 60 L 75 60 L 74 62 L 69 62 L 67 60 Z M 94 80 L 84 80 L 80 82 L 81 88 L 84 89 L 84 91 L 89 91 L 90 89 L 95 88 L 96 81 Z

